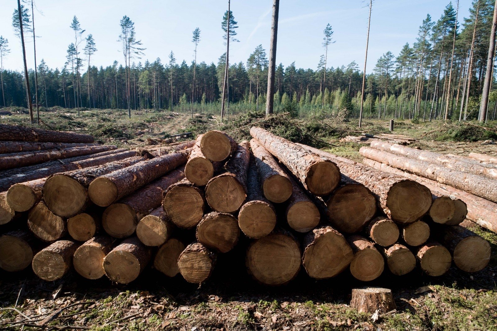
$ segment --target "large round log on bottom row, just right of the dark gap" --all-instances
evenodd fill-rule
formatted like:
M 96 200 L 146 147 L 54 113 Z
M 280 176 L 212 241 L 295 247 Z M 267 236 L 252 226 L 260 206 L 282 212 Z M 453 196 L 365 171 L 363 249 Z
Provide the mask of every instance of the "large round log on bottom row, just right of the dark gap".
M 247 250 L 248 273 L 265 285 L 285 285 L 300 270 L 300 245 L 289 232 L 277 229 L 257 239 Z

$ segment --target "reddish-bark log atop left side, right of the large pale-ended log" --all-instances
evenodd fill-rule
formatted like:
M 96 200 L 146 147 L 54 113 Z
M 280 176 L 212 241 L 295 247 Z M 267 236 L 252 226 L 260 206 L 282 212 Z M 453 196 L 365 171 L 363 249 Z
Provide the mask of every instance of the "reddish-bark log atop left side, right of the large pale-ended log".
M 97 206 L 107 207 L 139 187 L 184 165 L 188 154 L 189 150 L 167 154 L 97 177 L 88 186 L 89 197 Z

